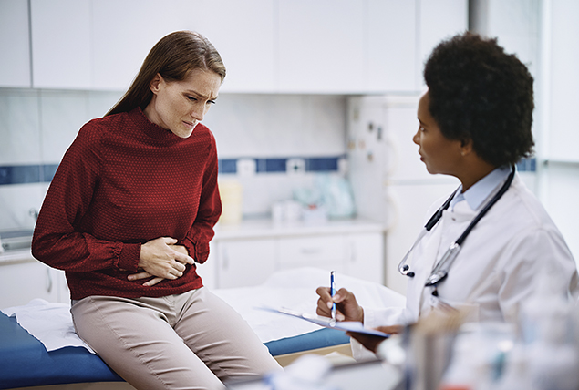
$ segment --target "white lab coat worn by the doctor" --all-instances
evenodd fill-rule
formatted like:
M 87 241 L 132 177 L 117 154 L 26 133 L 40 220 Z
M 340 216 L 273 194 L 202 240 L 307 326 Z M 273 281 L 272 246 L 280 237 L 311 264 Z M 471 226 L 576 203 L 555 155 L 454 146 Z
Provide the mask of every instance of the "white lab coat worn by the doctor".
M 429 217 L 443 200 L 431 207 Z M 481 208 L 487 202 L 483 201 Z M 435 260 L 439 261 L 478 211 L 471 210 L 466 200 L 445 210 L 408 261 L 416 275 L 408 280 L 406 307 L 364 308 L 366 326 L 415 323 L 439 304 L 437 299 L 456 308 L 469 306 L 474 321 L 515 323 L 519 305 L 535 290 L 538 272 L 554 274 L 558 285 L 576 299 L 579 286 L 574 258 L 546 210 L 518 175 L 470 231 L 447 279 L 439 283 L 438 298 L 433 297 L 433 288 L 424 283 Z M 360 356 L 362 348 L 353 340 L 355 356 Z

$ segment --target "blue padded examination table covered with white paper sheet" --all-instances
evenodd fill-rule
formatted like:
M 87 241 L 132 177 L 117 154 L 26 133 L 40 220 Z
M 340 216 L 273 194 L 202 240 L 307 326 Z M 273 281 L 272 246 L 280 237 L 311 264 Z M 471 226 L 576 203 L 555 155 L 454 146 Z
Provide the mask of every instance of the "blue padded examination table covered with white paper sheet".
M 337 288 L 355 292 L 358 302 L 368 307 L 404 305 L 404 297 L 377 283 L 340 274 L 336 279 Z M 276 272 L 259 286 L 212 292 L 241 313 L 270 353 L 287 365 L 303 354 L 349 353 L 344 332 L 262 310 L 287 307 L 315 313 L 315 288 L 328 281 L 329 272 L 302 268 Z M 74 334 L 68 310 L 63 303 L 34 300 L 0 313 L 0 389 L 133 388 Z

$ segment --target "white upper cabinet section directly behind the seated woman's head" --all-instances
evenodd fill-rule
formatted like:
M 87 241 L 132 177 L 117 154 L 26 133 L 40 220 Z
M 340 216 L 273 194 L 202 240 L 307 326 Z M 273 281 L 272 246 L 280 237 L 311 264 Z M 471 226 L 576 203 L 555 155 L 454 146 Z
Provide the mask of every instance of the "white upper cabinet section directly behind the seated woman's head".
M 223 91 L 273 92 L 273 9 L 272 0 L 32 0 L 34 87 L 126 90 L 162 36 L 195 30 L 228 68 Z

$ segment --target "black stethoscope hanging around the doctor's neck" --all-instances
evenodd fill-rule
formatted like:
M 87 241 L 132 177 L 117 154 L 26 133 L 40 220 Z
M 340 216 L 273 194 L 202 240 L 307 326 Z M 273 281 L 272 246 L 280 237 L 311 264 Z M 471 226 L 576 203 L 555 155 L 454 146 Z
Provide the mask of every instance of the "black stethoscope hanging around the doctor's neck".
M 476 217 L 474 217 L 474 219 L 470 222 L 470 224 L 466 228 L 466 230 L 464 232 L 462 232 L 459 239 L 457 241 L 454 241 L 454 243 L 451 244 L 449 249 L 444 253 L 444 255 L 442 256 L 442 259 L 440 259 L 438 264 L 434 267 L 434 269 L 430 273 L 429 279 L 427 279 L 426 283 L 424 284 L 425 287 L 429 287 L 429 286 L 435 286 L 436 287 L 437 283 L 443 281 L 449 275 L 450 266 L 452 265 L 452 262 L 454 262 L 454 259 L 456 259 L 457 255 L 459 254 L 460 246 L 466 240 L 466 238 L 469 236 L 470 231 L 472 231 L 474 226 L 479 221 L 481 221 L 481 218 L 484 217 L 484 215 L 489 210 L 491 210 L 491 207 L 498 200 L 500 200 L 501 196 L 509 189 L 509 186 L 511 186 L 511 183 L 512 183 L 512 179 L 514 178 L 514 173 L 515 173 L 515 168 L 513 166 L 511 173 L 509 173 L 509 177 L 502 184 L 501 189 L 484 206 L 484 208 L 481 210 L 481 212 L 479 212 L 479 214 Z M 459 187 L 459 189 L 460 189 L 460 187 Z M 398 264 L 398 271 L 401 274 L 406 275 L 410 278 L 414 277 L 415 273 L 410 271 L 410 267 L 406 263 L 408 256 L 410 255 L 410 252 L 412 250 L 414 250 L 414 248 L 418 245 L 419 241 L 422 240 L 422 237 L 424 237 L 424 235 L 426 233 L 428 233 L 440 221 L 440 218 L 442 218 L 442 212 L 449 208 L 450 201 L 454 198 L 454 196 L 457 194 L 459 189 L 455 190 L 452 193 L 452 195 L 450 195 L 449 199 L 446 200 L 442 204 L 442 206 L 440 206 L 439 210 L 437 210 L 434 213 L 434 215 L 432 215 L 432 217 L 430 217 L 430 219 L 426 223 L 426 225 L 424 225 L 424 229 L 422 231 L 420 231 L 419 237 L 416 239 L 416 241 L 414 241 L 414 243 L 412 244 L 412 246 L 410 247 L 410 249 L 408 250 L 406 255 L 404 255 L 404 258 L 402 259 L 402 261 Z

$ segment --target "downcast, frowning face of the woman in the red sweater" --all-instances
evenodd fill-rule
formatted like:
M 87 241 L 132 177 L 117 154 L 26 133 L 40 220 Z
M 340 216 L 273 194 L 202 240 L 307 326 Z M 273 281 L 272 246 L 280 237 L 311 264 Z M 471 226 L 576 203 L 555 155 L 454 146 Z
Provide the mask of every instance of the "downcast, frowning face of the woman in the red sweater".
M 215 103 L 221 84 L 217 73 L 202 69 L 192 70 L 182 81 L 167 82 L 158 74 L 150 83 L 153 97 L 144 113 L 151 122 L 186 139 Z

